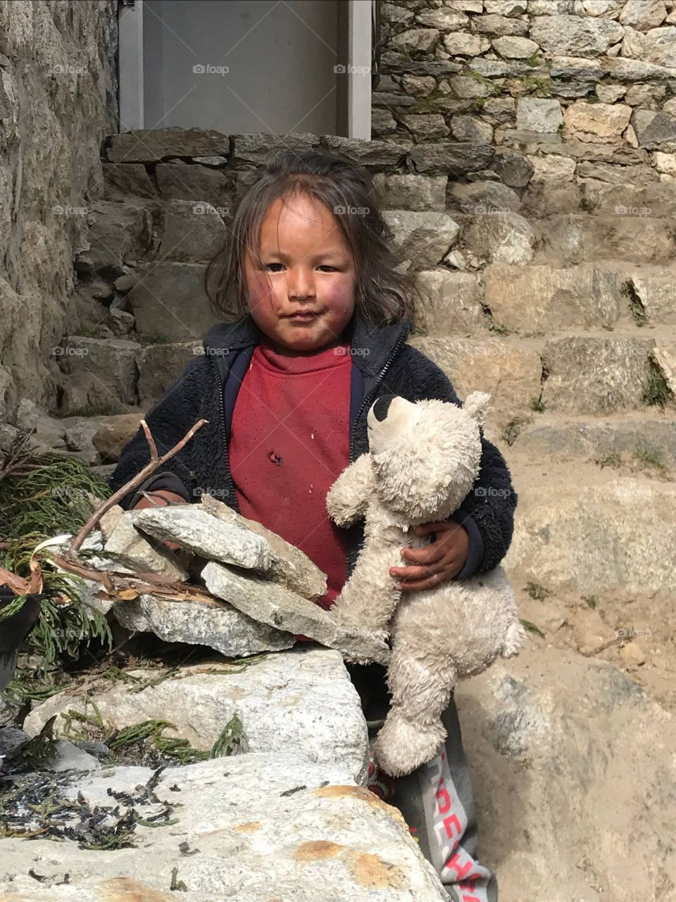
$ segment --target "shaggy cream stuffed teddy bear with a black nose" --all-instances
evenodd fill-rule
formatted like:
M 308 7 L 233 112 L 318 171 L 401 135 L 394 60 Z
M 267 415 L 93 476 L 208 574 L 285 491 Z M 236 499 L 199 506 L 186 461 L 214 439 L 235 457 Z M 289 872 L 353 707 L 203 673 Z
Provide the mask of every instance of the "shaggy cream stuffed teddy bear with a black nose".
M 376 640 L 391 640 L 392 701 L 374 753 L 393 777 L 434 758 L 446 738 L 441 715 L 456 681 L 479 674 L 499 655 L 516 654 L 525 640 L 501 566 L 410 593 L 389 575 L 391 566 L 405 566 L 401 548 L 430 541 L 412 528 L 447 520 L 470 492 L 489 400 L 483 391 L 473 391 L 462 407 L 379 398 L 367 418 L 369 453 L 348 466 L 326 496 L 339 526 L 365 519 L 363 548 L 332 615 Z

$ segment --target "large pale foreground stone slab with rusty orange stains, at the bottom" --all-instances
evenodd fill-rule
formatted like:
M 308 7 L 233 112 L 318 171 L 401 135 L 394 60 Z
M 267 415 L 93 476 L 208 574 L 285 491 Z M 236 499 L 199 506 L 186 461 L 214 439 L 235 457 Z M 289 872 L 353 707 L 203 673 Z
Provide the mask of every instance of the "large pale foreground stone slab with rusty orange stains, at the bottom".
M 397 809 L 335 766 L 252 754 L 168 768 L 102 769 L 67 782 L 89 808 L 129 802 L 133 848 L 1 840 L 0 898 L 12 902 L 443 902 L 448 897 Z M 155 780 L 156 785 L 155 785 Z M 145 787 L 152 787 L 151 793 Z M 150 795 L 150 798 L 148 797 Z M 144 800 L 145 799 L 145 800 Z M 178 805 L 180 803 L 180 805 Z M 79 813 L 66 813 L 78 824 Z M 63 812 L 55 815 L 63 819 Z M 176 823 L 170 823 L 174 819 Z M 31 877 L 29 870 L 41 877 Z M 64 882 L 68 873 L 69 882 Z M 173 874 L 173 878 L 172 878 Z M 172 888 L 175 891 L 172 891 Z

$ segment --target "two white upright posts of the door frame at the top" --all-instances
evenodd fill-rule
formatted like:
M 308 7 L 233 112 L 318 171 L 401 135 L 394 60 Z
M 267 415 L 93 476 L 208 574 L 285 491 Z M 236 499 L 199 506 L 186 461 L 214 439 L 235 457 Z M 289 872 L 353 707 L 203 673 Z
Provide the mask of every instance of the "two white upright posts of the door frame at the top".
M 372 5 L 348 0 L 348 137 L 370 141 Z M 120 6 L 118 27 L 120 131 L 146 127 L 143 117 L 143 0 Z M 152 127 L 151 124 L 148 124 Z

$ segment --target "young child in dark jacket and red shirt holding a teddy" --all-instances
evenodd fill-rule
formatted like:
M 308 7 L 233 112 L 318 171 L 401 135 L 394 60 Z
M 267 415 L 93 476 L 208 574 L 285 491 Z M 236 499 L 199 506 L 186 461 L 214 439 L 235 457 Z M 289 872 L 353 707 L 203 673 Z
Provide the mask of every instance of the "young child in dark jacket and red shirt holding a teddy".
M 406 344 L 420 301 L 396 270 L 389 237 L 366 172 L 318 152 L 271 155 L 207 268 L 207 294 L 223 322 L 146 417 L 160 454 L 197 419 L 208 423 L 123 507 L 199 502 L 212 492 L 305 551 L 328 577 L 320 603 L 331 607 L 352 572 L 363 523 L 335 526 L 326 492 L 368 450 L 370 405 L 382 394 L 461 404 L 443 372 Z M 481 442 L 480 476 L 461 508 L 449 520 L 418 527 L 420 535 L 432 534 L 431 543 L 403 549 L 402 566 L 390 569 L 403 591 L 486 572 L 505 556 L 516 493 L 498 448 L 483 434 Z M 148 459 L 139 429 L 111 487 Z M 153 492 L 152 501 L 143 491 Z M 350 671 L 373 735 L 387 713 L 384 669 Z M 396 785 L 371 769 L 370 788 L 384 797 L 394 791 L 391 801 L 450 897 L 496 902 L 495 875 L 476 859 L 453 699 L 444 723 L 449 738 L 433 761 Z

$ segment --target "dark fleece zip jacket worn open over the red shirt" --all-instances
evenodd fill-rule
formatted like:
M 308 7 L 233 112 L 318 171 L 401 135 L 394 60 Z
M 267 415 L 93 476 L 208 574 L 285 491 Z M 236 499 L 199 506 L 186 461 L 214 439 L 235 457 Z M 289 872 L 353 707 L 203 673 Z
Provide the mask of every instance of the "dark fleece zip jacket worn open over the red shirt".
M 452 384 L 425 354 L 406 344 L 408 322 L 374 327 L 355 311 L 345 338 L 351 345 L 352 391 L 350 405 L 350 461 L 369 450 L 366 415 L 383 394 L 410 401 L 436 398 L 462 406 Z M 200 353 L 146 416 L 158 453 L 165 454 L 184 437 L 198 419 L 208 422 L 160 472 L 121 502 L 126 510 L 138 502 L 142 490 L 166 489 L 187 502 L 199 502 L 205 492 L 239 512 L 228 464 L 227 436 L 237 391 L 258 344 L 260 330 L 251 316 L 235 323 L 220 323 L 206 335 Z M 481 430 L 480 474 L 472 490 L 454 511 L 467 529 L 470 550 L 456 579 L 485 573 L 505 557 L 514 529 L 517 495 L 505 458 Z M 150 460 L 142 428 L 124 447 L 109 484 L 117 491 Z M 352 573 L 364 538 L 363 520 L 347 530 L 347 575 Z

